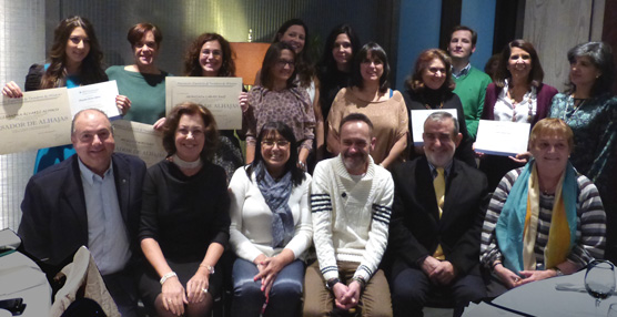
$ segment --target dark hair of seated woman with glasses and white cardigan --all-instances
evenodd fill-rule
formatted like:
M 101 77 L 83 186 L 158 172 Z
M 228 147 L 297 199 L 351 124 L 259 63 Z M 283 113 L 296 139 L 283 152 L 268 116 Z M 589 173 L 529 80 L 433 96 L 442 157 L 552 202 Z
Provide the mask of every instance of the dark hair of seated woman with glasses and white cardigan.
M 267 136 L 274 135 L 276 132 L 279 132 L 279 134 L 281 134 L 281 136 L 283 136 L 283 139 L 285 139 L 287 142 L 290 142 L 290 160 L 287 160 L 287 162 L 285 163 L 284 173 L 291 172 L 292 184 L 293 186 L 297 186 L 302 184 L 302 181 L 304 181 L 304 178 L 306 177 L 304 175 L 304 171 L 297 167 L 297 161 L 299 161 L 297 143 L 295 141 L 295 136 L 293 135 L 293 130 L 289 125 L 280 121 L 267 122 L 263 125 L 262 131 L 257 135 L 257 145 L 255 147 L 255 160 L 253 160 L 253 163 L 251 163 L 251 165 L 249 165 L 249 168 L 246 168 L 246 175 L 249 176 L 249 180 L 251 180 L 251 174 L 253 173 L 253 171 L 255 171 L 257 164 L 260 164 L 260 162 L 263 162 L 262 141 Z M 263 173 L 264 172 L 262 170 L 261 173 L 255 175 L 255 178 L 263 180 L 264 176 Z

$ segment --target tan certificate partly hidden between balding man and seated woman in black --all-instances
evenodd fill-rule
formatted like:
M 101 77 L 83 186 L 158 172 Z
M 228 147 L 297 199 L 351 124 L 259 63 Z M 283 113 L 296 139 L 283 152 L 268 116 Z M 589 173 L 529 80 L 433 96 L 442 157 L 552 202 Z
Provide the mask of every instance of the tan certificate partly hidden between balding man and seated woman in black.
M 135 155 L 145 162 L 148 167 L 168 155 L 163 147 L 163 133 L 154 130 L 152 125 L 127 120 L 115 120 L 111 124 L 115 152 Z

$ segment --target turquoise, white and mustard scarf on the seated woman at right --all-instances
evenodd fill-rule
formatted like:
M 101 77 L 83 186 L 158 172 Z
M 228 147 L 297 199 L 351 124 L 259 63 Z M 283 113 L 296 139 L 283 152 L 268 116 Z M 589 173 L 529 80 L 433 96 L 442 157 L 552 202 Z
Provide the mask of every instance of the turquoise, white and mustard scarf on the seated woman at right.
M 530 161 L 512 186 L 495 227 L 504 266 L 514 273 L 536 269 L 536 244 L 539 214 L 537 167 Z M 548 242 L 544 250 L 545 269 L 566 260 L 576 242 L 576 171 L 568 162 L 557 184 L 550 217 Z

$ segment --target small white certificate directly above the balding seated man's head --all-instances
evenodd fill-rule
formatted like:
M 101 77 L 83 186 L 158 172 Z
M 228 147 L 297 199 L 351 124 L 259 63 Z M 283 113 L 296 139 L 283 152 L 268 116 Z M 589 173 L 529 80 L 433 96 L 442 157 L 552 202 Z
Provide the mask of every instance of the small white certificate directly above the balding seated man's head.
M 114 80 L 72 88 L 68 93 L 72 115 L 85 109 L 98 109 L 110 119 L 120 117 L 120 110 L 115 105 L 118 85 Z

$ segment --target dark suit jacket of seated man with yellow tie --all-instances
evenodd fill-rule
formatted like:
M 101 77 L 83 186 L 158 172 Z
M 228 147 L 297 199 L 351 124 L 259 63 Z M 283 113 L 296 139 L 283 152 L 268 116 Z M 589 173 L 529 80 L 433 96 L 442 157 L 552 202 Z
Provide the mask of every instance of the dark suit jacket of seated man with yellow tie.
M 479 236 L 488 203 L 484 174 L 454 158 L 441 219 L 426 157 L 399 165 L 392 176 L 395 194 L 388 249 L 393 260 L 419 268 L 418 260 L 433 255 L 441 244 L 457 275 L 467 274 L 479 263 Z

